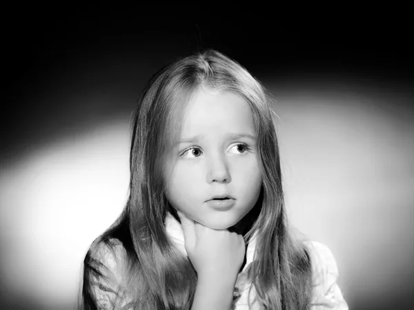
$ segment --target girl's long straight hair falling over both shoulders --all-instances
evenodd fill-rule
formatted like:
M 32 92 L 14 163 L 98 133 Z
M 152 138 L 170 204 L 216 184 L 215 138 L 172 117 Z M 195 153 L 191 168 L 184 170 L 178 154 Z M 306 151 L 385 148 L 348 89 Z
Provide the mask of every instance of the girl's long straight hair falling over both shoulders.
M 279 148 L 273 110 L 264 87 L 236 61 L 215 50 L 178 59 L 152 77 L 135 112 L 130 148 L 130 194 L 121 216 L 90 247 L 84 261 L 83 305 L 93 309 L 90 277 L 97 265 L 96 247 L 121 241 L 126 249 L 124 283 L 135 294 L 139 309 L 190 309 L 197 273 L 175 249 L 165 228 L 166 154 L 184 105 L 197 87 L 232 92 L 250 105 L 257 133 L 262 194 L 245 238 L 255 234 L 255 258 L 248 269 L 257 298 L 265 309 L 306 309 L 311 289 L 311 265 L 303 242 L 288 229 Z M 94 265 L 95 263 L 95 265 Z

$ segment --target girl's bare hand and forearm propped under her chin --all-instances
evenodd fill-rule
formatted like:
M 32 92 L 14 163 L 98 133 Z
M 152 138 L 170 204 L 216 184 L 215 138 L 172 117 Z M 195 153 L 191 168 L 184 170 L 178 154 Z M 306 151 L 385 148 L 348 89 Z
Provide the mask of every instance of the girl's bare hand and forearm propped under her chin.
M 188 258 L 197 271 L 191 309 L 230 309 L 246 250 L 243 237 L 227 229 L 210 229 L 178 214 Z

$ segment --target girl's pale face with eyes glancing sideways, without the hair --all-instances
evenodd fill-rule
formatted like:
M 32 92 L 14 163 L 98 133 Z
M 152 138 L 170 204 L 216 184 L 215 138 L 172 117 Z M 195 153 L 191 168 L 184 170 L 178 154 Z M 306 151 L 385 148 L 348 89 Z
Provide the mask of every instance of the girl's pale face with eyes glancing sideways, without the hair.
M 259 198 L 255 125 L 236 94 L 200 88 L 184 111 L 181 136 L 168 161 L 168 201 L 213 229 L 239 222 Z M 224 199 L 223 199 L 224 198 Z

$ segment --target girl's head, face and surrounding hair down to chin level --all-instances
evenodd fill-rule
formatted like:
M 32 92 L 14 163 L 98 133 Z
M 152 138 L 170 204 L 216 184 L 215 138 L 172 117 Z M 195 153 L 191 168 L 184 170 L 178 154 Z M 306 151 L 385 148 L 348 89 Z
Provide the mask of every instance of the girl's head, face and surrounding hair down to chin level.
M 212 50 L 179 59 L 152 79 L 135 118 L 130 164 L 130 198 L 148 201 L 132 205 L 150 223 L 162 223 L 172 206 L 224 229 L 269 200 L 259 216 L 266 225 L 282 201 L 264 88 L 241 65 Z

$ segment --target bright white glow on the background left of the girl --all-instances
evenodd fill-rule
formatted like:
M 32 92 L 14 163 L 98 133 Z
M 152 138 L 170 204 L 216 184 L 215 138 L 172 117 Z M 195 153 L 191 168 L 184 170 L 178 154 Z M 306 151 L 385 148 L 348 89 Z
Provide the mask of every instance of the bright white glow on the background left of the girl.
M 73 304 L 88 245 L 126 203 L 128 125 L 74 135 L 1 173 L 2 268 L 13 289 L 45 307 Z

